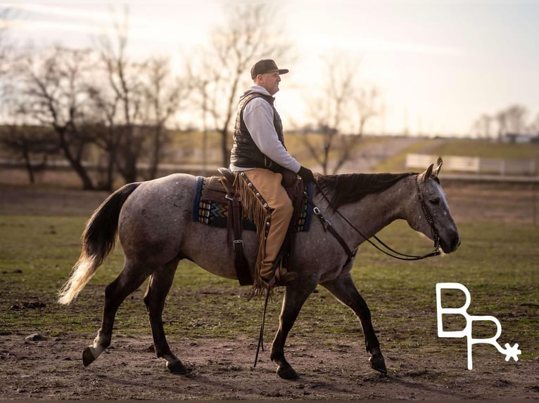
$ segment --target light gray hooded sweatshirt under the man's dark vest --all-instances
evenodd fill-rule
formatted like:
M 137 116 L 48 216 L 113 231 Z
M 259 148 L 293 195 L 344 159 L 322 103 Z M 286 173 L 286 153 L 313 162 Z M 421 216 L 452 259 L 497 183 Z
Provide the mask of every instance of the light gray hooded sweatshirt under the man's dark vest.
M 252 86 L 241 95 L 241 98 L 253 92 L 270 95 L 264 87 Z M 300 170 L 300 163 L 288 154 L 286 148 L 279 141 L 273 124 L 273 108 L 266 100 L 263 98 L 253 98 L 248 101 L 245 107 L 243 107 L 243 121 L 245 121 L 247 130 L 262 154 L 265 154 L 272 161 L 293 172 L 297 173 Z M 254 167 L 246 168 L 230 164 L 229 168 L 231 171 L 248 171 Z

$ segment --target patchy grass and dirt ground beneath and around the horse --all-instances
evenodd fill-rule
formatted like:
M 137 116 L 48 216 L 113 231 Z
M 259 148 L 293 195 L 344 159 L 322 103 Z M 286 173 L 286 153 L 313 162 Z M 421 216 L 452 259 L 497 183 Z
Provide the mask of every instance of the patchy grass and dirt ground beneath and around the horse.
M 363 244 L 352 270 L 369 304 L 389 375 L 370 369 L 360 322 L 319 287 L 305 303 L 286 351 L 302 378 L 284 382 L 269 352 L 251 368 L 262 312 L 249 287 L 181 263 L 163 319 L 188 376 L 167 373 L 151 345 L 145 284 L 118 311 L 113 345 L 84 368 L 80 352 L 99 329 L 103 293 L 122 267 L 119 246 L 75 303 L 56 303 L 80 253 L 80 234 L 104 192 L 0 185 L 0 395 L 6 399 L 497 399 L 537 398 L 539 232 L 537 190 L 530 185 L 445 183 L 462 237 L 455 253 L 401 262 Z M 405 223 L 379 236 L 404 253 L 432 244 Z M 474 346 L 467 371 L 464 339 L 438 338 L 436 284 L 458 282 L 471 293 L 469 315 L 493 315 L 500 345 L 519 343 L 519 362 L 491 345 Z M 282 291 L 269 305 L 265 342 L 278 326 Z M 464 305 L 443 293 L 444 308 Z M 445 330 L 465 326 L 448 315 Z M 474 324 L 476 338 L 495 333 Z M 37 341 L 32 334 L 39 333 Z M 30 337 L 30 341 L 27 338 Z

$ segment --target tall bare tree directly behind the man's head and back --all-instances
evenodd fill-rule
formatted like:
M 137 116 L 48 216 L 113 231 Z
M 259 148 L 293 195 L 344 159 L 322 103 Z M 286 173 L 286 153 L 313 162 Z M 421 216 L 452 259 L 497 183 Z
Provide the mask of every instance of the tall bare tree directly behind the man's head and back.
M 221 136 L 222 164 L 229 164 L 231 136 L 241 87 L 248 84 L 251 66 L 261 58 L 286 60 L 291 46 L 267 4 L 237 4 L 227 10 L 226 22 L 216 27 L 210 46 L 199 53 L 203 69 L 191 71 L 202 91 L 199 98 Z

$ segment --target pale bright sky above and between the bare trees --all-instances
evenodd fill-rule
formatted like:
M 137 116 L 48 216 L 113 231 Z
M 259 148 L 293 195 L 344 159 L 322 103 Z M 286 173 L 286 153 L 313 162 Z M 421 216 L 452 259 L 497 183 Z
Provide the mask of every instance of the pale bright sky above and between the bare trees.
M 128 1 L 135 56 L 189 54 L 224 23 L 234 0 Z M 539 0 L 277 0 L 277 19 L 297 48 L 277 94 L 284 119 L 307 112 L 305 88 L 320 86 L 322 57 L 361 60 L 360 79 L 383 94 L 383 119 L 371 131 L 469 133 L 481 114 L 524 105 L 539 114 Z M 19 43 L 90 46 L 120 3 L 16 4 L 11 34 Z M 253 60 L 255 62 L 256 60 Z M 287 87 L 287 83 L 288 87 Z M 285 126 L 286 127 L 286 126 Z

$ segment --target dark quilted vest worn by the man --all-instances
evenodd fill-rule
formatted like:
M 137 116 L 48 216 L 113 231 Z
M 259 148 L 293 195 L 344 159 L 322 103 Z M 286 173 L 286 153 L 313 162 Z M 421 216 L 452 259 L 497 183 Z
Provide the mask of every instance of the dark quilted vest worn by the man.
M 243 121 L 243 109 L 245 105 L 253 98 L 263 98 L 273 109 L 273 125 L 277 131 L 277 137 L 284 146 L 283 124 L 281 117 L 273 106 L 274 98 L 270 95 L 261 93 L 251 93 L 243 98 L 238 105 L 238 114 L 236 116 L 236 125 L 234 126 L 234 143 L 230 152 L 230 162 L 235 166 L 244 168 L 265 168 L 274 172 L 281 172 L 284 168 L 272 161 L 269 157 L 258 149 L 251 137 L 251 133 L 247 130 L 245 121 Z

